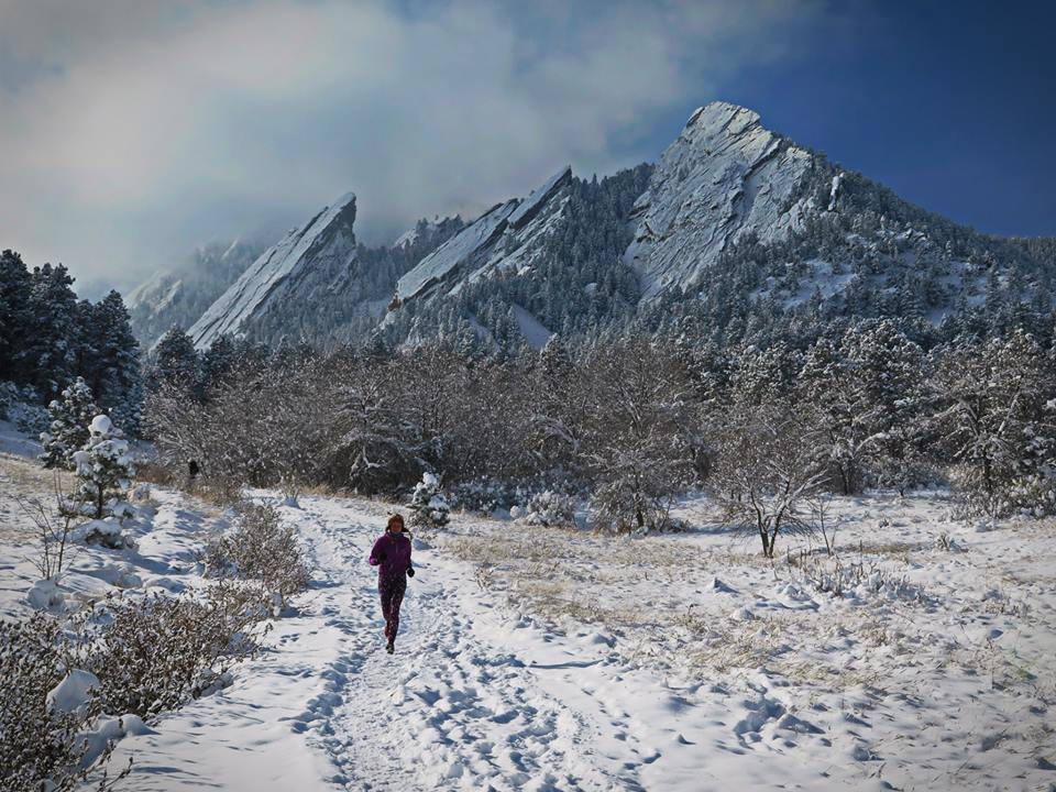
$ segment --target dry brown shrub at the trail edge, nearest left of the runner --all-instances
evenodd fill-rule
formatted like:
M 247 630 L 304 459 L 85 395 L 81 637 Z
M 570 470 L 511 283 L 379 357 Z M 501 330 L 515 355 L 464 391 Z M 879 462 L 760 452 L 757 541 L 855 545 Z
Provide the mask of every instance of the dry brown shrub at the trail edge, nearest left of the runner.
M 243 502 L 234 530 L 210 542 L 202 561 L 210 576 L 260 581 L 277 609 L 311 582 L 296 531 L 267 504 Z

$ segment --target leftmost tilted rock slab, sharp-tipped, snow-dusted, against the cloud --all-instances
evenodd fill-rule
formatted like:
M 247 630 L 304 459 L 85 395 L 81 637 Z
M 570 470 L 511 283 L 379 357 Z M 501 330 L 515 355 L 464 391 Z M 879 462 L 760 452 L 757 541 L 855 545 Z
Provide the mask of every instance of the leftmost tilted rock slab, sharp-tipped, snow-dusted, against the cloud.
M 355 196 L 342 196 L 286 234 L 242 273 L 187 331 L 195 348 L 220 336 L 245 336 L 271 311 L 310 305 L 344 287 L 356 258 Z

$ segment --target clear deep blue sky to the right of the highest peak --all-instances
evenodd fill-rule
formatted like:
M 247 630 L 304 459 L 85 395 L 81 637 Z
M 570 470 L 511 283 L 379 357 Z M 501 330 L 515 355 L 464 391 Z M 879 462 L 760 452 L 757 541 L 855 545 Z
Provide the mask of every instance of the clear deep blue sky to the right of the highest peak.
M 1056 235 L 1056 3 L 889 1 L 853 20 L 724 94 L 927 209 Z

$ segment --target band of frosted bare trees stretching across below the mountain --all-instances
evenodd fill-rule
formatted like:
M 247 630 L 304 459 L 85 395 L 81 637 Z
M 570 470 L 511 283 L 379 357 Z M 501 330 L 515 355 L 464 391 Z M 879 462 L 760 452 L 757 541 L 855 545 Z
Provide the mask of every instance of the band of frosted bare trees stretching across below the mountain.
M 873 486 L 949 483 L 966 514 L 1056 510 L 1054 352 L 1024 330 L 931 348 L 889 319 L 805 348 L 642 332 L 502 355 L 447 334 L 399 352 L 219 346 L 166 339 L 145 424 L 165 460 L 217 482 L 398 495 L 435 472 L 480 508 L 587 497 L 612 531 L 671 527 L 697 487 L 767 530 L 794 521 L 782 497 Z

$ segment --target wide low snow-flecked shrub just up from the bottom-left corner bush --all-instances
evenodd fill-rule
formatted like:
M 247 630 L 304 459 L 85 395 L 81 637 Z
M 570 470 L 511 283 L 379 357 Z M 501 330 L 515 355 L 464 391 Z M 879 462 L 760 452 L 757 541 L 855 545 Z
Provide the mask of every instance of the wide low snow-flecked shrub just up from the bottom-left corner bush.
M 228 669 L 258 649 L 260 600 L 213 585 L 195 595 L 111 595 L 77 614 L 77 664 L 99 678 L 106 712 L 148 719 L 210 691 Z

